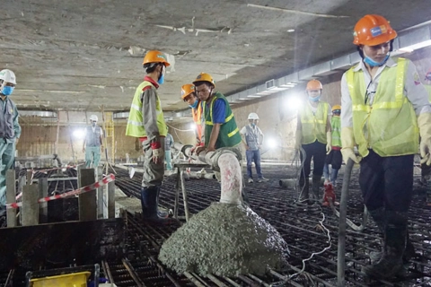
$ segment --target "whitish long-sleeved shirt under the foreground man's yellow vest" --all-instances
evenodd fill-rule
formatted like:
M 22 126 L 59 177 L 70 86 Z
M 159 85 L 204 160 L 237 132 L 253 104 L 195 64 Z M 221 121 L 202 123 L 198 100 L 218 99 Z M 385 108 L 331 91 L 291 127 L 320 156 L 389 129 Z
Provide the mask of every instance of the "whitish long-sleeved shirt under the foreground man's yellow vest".
M 416 70 L 416 66 L 411 63 L 411 61 L 407 60 L 407 69 L 405 74 L 404 81 L 404 95 L 413 105 L 413 109 L 415 109 L 415 113 L 418 116 L 421 113 L 429 113 L 431 112 L 431 106 L 428 101 L 428 94 L 425 87 L 420 83 L 419 75 Z M 379 84 L 380 77 L 382 75 L 383 69 L 385 66 L 395 67 L 398 65 L 391 58 L 388 61 L 379 67 L 377 73 L 374 75 L 374 79 L 371 79 L 371 75 L 365 67 L 364 62 L 360 62 L 359 65 L 356 65 L 354 71 L 363 70 L 364 74 L 364 83 L 368 86 L 365 86 L 367 94 L 369 98 L 367 103 L 369 105 L 373 105 L 374 94 L 377 91 L 377 87 Z M 395 84 L 395 81 L 393 82 Z M 352 127 L 353 126 L 353 111 L 352 111 L 352 98 L 350 97 L 350 92 L 347 87 L 347 79 L 346 73 L 343 74 L 341 78 L 341 127 Z

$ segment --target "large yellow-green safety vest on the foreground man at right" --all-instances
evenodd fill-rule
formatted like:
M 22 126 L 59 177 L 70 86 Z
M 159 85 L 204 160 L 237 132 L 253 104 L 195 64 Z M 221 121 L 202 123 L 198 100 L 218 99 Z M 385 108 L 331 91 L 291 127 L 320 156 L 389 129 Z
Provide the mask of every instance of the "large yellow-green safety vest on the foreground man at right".
M 385 66 L 373 105 L 365 103 L 365 80 L 362 70 L 347 71 L 347 86 L 352 98 L 353 133 L 360 155 L 373 149 L 380 156 L 397 156 L 418 152 L 418 120 L 413 106 L 404 95 L 406 66 Z

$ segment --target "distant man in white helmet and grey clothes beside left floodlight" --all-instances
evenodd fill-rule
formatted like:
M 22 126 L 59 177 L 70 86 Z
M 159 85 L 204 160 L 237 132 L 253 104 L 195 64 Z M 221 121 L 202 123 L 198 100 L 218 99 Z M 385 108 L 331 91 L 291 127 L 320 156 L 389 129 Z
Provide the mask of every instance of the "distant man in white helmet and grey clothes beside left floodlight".
M 101 126 L 97 126 L 98 117 L 90 116 L 91 126 L 85 128 L 85 138 L 83 152 L 85 152 L 85 167 L 97 169 L 101 161 L 101 151 L 103 151 L 103 131 Z

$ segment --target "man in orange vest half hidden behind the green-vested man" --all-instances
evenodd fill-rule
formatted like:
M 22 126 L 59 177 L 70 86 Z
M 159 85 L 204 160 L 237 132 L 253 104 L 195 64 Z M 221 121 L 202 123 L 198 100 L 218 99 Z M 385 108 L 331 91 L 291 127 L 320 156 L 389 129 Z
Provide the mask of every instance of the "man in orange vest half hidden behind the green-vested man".
M 186 83 L 181 87 L 181 99 L 189 104 L 193 122 L 196 125 L 196 146 L 204 145 L 204 136 L 202 135 L 202 104 L 195 92 L 195 85 Z

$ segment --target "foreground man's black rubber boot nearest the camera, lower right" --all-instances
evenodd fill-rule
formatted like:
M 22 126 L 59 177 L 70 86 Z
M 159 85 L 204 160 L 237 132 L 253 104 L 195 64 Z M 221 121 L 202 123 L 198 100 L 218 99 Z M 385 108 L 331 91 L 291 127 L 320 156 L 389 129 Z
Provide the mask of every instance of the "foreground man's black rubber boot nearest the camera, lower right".
M 367 276 L 388 279 L 403 273 L 402 255 L 407 241 L 407 213 L 385 212 L 383 257 L 362 268 Z

